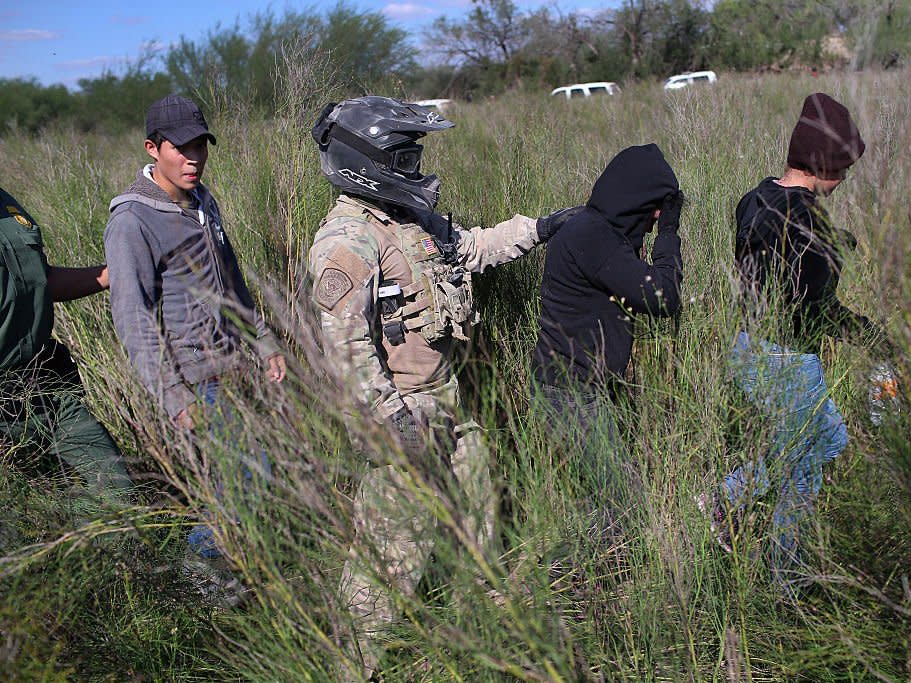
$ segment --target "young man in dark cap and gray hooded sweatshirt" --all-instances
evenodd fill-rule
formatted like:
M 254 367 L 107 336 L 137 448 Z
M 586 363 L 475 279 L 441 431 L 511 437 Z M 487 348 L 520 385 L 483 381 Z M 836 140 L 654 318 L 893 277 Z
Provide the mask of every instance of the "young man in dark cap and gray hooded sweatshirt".
M 111 201 L 104 233 L 114 327 L 140 380 L 174 422 L 191 429 L 202 416 L 227 433 L 230 411 L 217 407 L 219 379 L 243 362 L 251 343 L 271 381 L 285 360 L 257 312 L 221 225 L 218 204 L 202 184 L 208 143 L 199 107 L 168 95 L 146 114 L 145 149 L 154 163 Z M 248 473 L 249 474 L 249 473 Z M 201 556 L 218 557 L 212 531 L 190 535 Z

